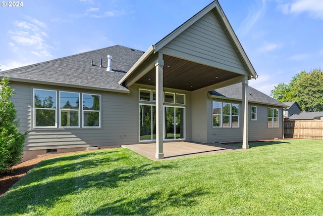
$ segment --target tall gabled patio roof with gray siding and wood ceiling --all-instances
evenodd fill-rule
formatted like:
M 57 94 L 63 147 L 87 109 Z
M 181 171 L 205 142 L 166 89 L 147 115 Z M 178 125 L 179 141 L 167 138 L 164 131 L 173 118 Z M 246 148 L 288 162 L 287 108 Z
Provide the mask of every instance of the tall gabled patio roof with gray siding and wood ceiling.
M 201 23 L 207 30 L 201 28 Z M 218 31 L 219 29 L 221 31 Z M 196 32 L 201 34 L 197 35 Z M 205 32 L 212 35 L 202 35 Z M 196 40 L 200 40 L 193 35 L 205 39 L 202 41 L 204 42 L 203 48 L 196 43 Z M 223 50 L 230 53 L 230 57 Z M 158 52 L 164 54 L 165 66 L 171 65 L 171 68 L 164 67 L 164 87 L 167 88 L 194 91 L 241 75 L 247 75 L 249 79 L 257 78 L 252 64 L 217 0 L 155 45 L 150 46 L 119 83 L 125 86 L 130 86 L 135 82 L 154 84 L 154 63 Z M 206 52 L 208 52 L 207 55 Z M 230 61 L 235 61 L 235 65 Z M 172 69 L 175 68 L 172 64 L 176 63 L 178 63 L 177 70 Z M 186 67 L 183 68 L 183 66 Z M 179 76 L 181 78 L 176 79 Z M 214 80 L 214 77 L 219 77 L 219 79 Z

